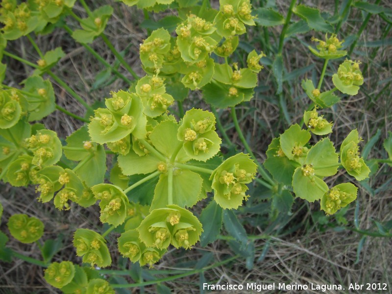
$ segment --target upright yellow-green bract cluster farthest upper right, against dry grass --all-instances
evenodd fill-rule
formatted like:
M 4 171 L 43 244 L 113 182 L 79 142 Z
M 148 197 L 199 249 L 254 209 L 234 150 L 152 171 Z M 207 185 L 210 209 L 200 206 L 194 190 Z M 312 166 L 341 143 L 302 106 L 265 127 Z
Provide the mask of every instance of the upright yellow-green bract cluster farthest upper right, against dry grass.
M 364 77 L 359 70 L 359 61 L 345 60 L 332 75 L 332 82 L 344 94 L 357 95 L 359 86 L 364 83 Z

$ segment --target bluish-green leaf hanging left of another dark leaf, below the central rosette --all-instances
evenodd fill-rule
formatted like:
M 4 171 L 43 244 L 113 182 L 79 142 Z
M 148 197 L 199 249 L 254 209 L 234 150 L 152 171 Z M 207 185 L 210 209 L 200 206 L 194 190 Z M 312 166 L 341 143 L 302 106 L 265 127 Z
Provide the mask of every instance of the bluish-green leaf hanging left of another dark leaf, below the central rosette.
M 222 208 L 215 201 L 210 201 L 200 214 L 199 218 L 204 232 L 200 236 L 200 245 L 205 247 L 218 239 L 222 226 Z

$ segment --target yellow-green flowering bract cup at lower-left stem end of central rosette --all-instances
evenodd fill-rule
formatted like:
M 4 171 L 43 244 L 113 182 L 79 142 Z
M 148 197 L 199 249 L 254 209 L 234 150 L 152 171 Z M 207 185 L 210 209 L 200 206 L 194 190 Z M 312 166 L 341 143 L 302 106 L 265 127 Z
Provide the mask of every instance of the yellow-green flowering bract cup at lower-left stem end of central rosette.
M 128 198 L 119 187 L 110 184 L 98 184 L 91 188 L 94 196 L 100 200 L 101 222 L 107 222 L 118 226 L 122 224 L 126 217 Z

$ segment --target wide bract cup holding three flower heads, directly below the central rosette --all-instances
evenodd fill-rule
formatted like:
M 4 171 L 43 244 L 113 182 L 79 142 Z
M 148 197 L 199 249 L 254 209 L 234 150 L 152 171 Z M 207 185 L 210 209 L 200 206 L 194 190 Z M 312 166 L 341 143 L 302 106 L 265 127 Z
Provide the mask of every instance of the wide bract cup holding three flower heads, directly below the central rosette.
M 188 210 L 177 205 L 154 209 L 137 228 L 140 240 L 148 247 L 191 248 L 203 231 L 201 223 Z

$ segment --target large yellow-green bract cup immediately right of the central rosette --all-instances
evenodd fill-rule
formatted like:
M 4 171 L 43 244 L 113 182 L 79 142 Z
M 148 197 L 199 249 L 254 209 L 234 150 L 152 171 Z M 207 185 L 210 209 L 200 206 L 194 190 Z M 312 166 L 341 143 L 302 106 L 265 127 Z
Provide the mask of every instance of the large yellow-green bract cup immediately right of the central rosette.
M 236 154 L 226 159 L 211 174 L 214 199 L 222 208 L 237 208 L 247 199 L 245 184 L 249 184 L 256 175 L 256 164 L 249 155 Z

